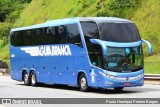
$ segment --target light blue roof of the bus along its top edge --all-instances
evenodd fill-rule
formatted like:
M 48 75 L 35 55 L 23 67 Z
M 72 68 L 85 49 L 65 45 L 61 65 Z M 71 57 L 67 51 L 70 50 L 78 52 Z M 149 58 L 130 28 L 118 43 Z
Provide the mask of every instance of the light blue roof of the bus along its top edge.
M 73 24 L 73 23 L 78 23 L 79 21 L 94 21 L 96 23 L 102 23 L 102 22 L 133 23 L 130 20 L 116 18 L 116 17 L 73 17 L 73 18 L 51 20 L 51 21 L 47 21 L 45 23 L 36 24 L 36 25 L 32 25 L 32 26 L 27 26 L 27 27 L 14 28 L 14 29 L 11 29 L 11 32 L 19 31 L 19 30 L 27 30 L 27 29 L 36 29 L 36 28 L 42 28 L 42 27 L 48 27 L 48 26 Z

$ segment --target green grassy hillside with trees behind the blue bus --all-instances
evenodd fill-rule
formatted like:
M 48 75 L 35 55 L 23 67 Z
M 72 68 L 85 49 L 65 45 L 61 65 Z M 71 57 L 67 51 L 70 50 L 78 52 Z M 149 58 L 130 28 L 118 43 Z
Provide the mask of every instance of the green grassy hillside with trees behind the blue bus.
M 159 73 L 160 1 L 159 0 L 1 0 L 12 1 L 9 13 L 0 21 L 0 58 L 9 62 L 8 35 L 11 28 L 67 17 L 121 17 L 136 23 L 141 38 L 151 42 L 153 54 L 145 57 L 145 73 Z M 13 3 L 14 1 L 14 3 Z M 7 3 L 7 2 L 6 2 Z M 0 15 L 1 9 L 0 6 Z M 3 50 L 3 51 L 2 51 Z

